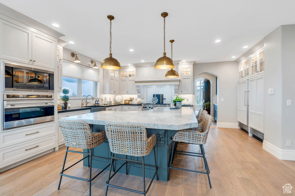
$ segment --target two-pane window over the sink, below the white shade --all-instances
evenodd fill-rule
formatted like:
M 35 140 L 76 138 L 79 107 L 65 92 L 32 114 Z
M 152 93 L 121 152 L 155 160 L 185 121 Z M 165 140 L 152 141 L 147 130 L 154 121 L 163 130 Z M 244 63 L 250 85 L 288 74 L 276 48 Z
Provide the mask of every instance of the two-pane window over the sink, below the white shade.
M 96 97 L 96 87 L 98 86 L 98 82 L 96 81 L 63 76 L 63 88 L 70 90 L 69 97 L 82 98 L 88 95 Z M 63 96 L 63 93 L 60 93 L 60 96 Z

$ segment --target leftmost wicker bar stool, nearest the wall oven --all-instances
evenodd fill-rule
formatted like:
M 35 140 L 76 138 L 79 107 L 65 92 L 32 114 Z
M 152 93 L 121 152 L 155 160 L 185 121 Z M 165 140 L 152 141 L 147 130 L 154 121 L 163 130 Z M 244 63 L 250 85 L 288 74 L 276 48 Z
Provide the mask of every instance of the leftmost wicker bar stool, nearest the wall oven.
M 60 180 L 58 184 L 58 190 L 60 188 L 60 183 L 61 183 L 61 178 L 63 176 L 78 179 L 78 180 L 84 180 L 89 182 L 89 195 L 91 195 L 91 181 L 94 180 L 101 172 L 103 172 L 107 167 L 109 167 L 111 164 L 107 165 L 103 170 L 101 170 L 96 176 L 91 178 L 91 160 L 92 158 L 101 158 L 101 159 L 108 159 L 109 158 L 102 158 L 102 157 L 96 157 L 92 155 L 92 149 L 102 143 L 104 143 L 106 139 L 106 133 L 105 131 L 102 131 L 100 133 L 94 133 L 91 132 L 89 124 L 86 123 L 83 120 L 58 120 L 58 126 L 60 128 L 60 132 L 63 134 L 63 138 L 65 140 L 65 145 L 67 146 L 67 150 L 65 151 L 65 160 L 67 158 L 68 152 L 73 152 L 73 153 L 80 153 L 87 155 L 86 157 L 82 158 L 78 162 L 74 163 L 70 167 L 67 167 L 65 169 L 65 160 L 63 162 L 63 168 L 60 172 Z M 87 153 L 84 152 L 79 152 L 79 151 L 73 151 L 73 150 L 68 150 L 69 147 L 73 148 L 83 148 L 87 149 Z M 75 177 L 75 176 L 70 176 L 66 175 L 63 172 L 71 168 L 72 166 L 76 165 L 83 159 L 87 158 L 88 159 L 88 167 L 90 167 L 90 172 L 89 172 L 89 179 L 85 178 L 80 178 L 80 177 Z M 113 167 L 114 170 L 114 167 Z

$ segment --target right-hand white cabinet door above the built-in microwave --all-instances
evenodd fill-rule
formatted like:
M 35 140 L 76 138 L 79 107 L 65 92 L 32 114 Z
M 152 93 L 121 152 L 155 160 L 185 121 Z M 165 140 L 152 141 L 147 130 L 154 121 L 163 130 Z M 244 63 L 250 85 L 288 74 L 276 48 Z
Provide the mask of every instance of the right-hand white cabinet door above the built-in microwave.
M 55 69 L 56 50 L 55 41 L 32 33 L 32 65 Z

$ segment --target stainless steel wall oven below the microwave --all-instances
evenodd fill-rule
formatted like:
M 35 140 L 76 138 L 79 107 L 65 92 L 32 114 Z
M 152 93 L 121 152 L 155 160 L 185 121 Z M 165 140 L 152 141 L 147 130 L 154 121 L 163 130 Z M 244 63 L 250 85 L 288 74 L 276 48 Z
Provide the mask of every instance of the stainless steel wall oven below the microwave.
M 4 93 L 3 100 L 3 129 L 54 120 L 53 94 Z

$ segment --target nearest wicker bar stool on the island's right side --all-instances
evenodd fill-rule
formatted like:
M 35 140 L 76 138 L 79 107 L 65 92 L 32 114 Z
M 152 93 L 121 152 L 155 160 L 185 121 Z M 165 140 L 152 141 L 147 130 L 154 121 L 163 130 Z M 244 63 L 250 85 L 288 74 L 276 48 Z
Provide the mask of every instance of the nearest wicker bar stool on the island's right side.
M 198 173 L 207 174 L 210 189 L 212 188 L 210 178 L 209 178 L 210 170 L 209 170 L 209 166 L 208 166 L 208 163 L 207 163 L 207 159 L 205 157 L 205 150 L 204 150 L 204 147 L 203 147 L 203 144 L 206 144 L 206 142 L 207 142 L 207 137 L 208 137 L 211 122 L 212 122 L 212 117 L 209 114 L 207 114 L 207 115 L 205 115 L 201 130 L 196 129 L 196 128 L 191 128 L 191 129 L 179 130 L 177 133 L 175 133 L 175 135 L 172 138 L 173 147 L 172 147 L 172 152 L 171 152 L 171 160 L 169 161 L 168 180 L 170 178 L 171 169 L 184 170 L 184 171 L 190 171 L 190 172 L 198 172 Z M 175 149 L 175 144 L 178 143 L 178 142 L 200 145 L 201 153 L 193 153 L 193 152 L 186 152 L 186 151 L 176 150 Z M 171 165 L 173 163 L 173 157 L 175 156 L 175 154 L 189 155 L 189 156 L 203 158 L 204 159 L 204 165 L 205 165 L 205 168 L 206 168 L 206 172 L 172 167 Z

